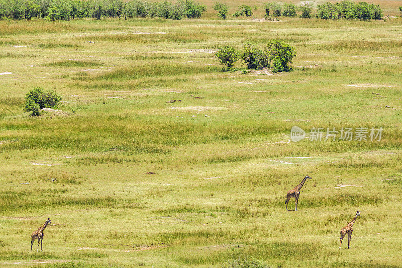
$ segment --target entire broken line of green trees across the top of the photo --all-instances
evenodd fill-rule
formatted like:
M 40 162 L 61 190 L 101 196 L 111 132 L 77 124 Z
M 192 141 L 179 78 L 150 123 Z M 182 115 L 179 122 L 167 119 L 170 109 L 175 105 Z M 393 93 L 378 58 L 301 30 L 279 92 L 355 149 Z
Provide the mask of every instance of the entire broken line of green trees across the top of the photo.
M 218 16 L 226 19 L 229 7 L 216 3 L 214 9 Z M 344 0 L 338 3 L 327 2 L 318 5 L 316 14 L 309 4 L 295 6 L 293 4 L 267 3 L 264 6 L 267 19 L 280 16 L 320 19 L 360 19 L 379 20 L 383 13 L 378 5 L 366 2 L 355 3 Z M 102 17 L 135 18 L 159 17 L 180 20 L 182 18 L 200 18 L 207 7 L 193 0 L 178 0 L 149 3 L 143 0 L 0 0 L 0 19 L 32 19 L 44 18 L 48 20 L 71 20 L 82 18 Z M 299 15 L 297 14 L 299 13 Z M 238 16 L 252 16 L 249 6 L 241 5 L 233 14 Z

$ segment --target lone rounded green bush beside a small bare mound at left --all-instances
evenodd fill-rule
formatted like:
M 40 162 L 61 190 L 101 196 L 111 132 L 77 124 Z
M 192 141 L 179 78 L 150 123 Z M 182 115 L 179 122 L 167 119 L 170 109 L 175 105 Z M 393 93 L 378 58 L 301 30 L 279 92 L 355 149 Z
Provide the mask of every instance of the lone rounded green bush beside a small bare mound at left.
M 32 111 L 32 115 L 39 115 L 43 108 L 55 108 L 62 100 L 54 91 L 45 91 L 42 87 L 34 87 L 25 95 L 25 111 Z

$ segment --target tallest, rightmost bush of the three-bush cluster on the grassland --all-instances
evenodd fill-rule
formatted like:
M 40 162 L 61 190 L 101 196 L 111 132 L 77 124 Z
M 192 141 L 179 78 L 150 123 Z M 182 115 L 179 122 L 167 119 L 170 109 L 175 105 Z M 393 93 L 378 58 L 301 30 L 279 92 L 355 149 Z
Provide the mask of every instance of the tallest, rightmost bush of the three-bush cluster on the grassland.
M 273 72 L 290 71 L 289 63 L 296 56 L 294 49 L 281 40 L 271 40 L 268 43 L 268 54 L 273 63 Z

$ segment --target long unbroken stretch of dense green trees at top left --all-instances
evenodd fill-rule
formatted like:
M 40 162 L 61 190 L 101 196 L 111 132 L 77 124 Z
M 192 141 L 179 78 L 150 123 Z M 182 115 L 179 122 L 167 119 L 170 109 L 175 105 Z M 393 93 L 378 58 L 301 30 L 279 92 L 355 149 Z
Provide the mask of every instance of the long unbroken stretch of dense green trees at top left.
M 181 20 L 200 18 L 207 7 L 192 0 L 149 3 L 146 1 L 122 0 L 0 0 L 0 19 L 71 20 L 82 18 L 111 17 L 160 17 Z

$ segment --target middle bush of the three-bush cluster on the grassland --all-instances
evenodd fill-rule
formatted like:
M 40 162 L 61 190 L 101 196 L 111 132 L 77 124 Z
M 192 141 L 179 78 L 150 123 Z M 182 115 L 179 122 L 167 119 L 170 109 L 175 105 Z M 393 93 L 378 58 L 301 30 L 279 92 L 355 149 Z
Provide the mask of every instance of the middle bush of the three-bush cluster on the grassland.
M 269 57 L 267 53 L 252 43 L 247 43 L 243 46 L 242 59 L 249 69 L 269 67 Z

